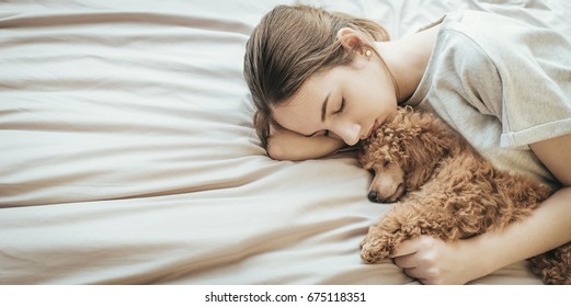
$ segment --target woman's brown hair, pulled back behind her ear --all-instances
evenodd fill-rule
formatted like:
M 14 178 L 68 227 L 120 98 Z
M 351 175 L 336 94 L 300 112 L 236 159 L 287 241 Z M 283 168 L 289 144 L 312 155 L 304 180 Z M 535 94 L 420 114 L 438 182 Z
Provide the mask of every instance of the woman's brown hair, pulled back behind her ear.
M 365 46 L 375 50 L 362 42 L 346 53 L 336 37 L 343 27 L 369 42 L 389 39 L 385 29 L 370 20 L 307 5 L 276 7 L 254 29 L 245 46 L 243 75 L 256 109 L 254 127 L 265 149 L 270 126 L 279 126 L 272 107 L 294 95 L 313 73 L 351 64 Z

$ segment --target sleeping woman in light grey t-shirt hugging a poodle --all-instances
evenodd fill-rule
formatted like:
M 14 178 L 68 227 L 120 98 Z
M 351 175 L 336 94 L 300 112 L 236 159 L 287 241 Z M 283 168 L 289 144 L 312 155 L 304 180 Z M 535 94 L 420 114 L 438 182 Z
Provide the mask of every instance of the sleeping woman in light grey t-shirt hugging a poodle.
M 557 192 L 501 232 L 404 241 L 395 263 L 424 284 L 465 284 L 571 241 L 571 42 L 501 15 L 456 11 L 396 41 L 369 20 L 279 5 L 253 31 L 244 78 L 270 157 L 357 145 L 398 105 L 439 115 L 494 166 Z

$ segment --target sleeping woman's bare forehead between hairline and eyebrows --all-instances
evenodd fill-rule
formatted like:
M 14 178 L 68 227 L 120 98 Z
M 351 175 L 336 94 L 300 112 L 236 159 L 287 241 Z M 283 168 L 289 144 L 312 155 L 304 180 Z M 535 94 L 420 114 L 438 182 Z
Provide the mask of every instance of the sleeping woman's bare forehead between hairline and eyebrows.
M 276 122 L 305 135 L 319 130 L 323 102 L 335 89 L 334 77 L 329 71 L 307 79 L 292 98 L 273 109 Z

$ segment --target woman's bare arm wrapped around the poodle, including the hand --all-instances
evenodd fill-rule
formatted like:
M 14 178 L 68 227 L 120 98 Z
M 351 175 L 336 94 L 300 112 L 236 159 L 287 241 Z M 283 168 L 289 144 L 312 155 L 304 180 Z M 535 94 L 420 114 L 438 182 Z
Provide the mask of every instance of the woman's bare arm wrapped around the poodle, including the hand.
M 571 135 L 530 147 L 563 185 L 532 216 L 468 240 L 445 243 L 429 236 L 409 240 L 395 255 L 397 265 L 425 284 L 464 284 L 571 241 Z

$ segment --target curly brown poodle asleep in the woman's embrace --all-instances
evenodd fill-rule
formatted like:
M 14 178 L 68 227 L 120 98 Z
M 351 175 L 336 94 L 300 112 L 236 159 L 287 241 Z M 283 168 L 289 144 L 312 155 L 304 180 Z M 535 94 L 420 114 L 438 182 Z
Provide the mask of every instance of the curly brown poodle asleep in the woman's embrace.
M 444 122 L 410 106 L 364 141 L 359 162 L 375 173 L 369 200 L 399 201 L 363 239 L 367 263 L 420 235 L 454 241 L 500 230 L 553 192 L 493 168 Z M 571 243 L 529 260 L 546 284 L 571 284 Z

